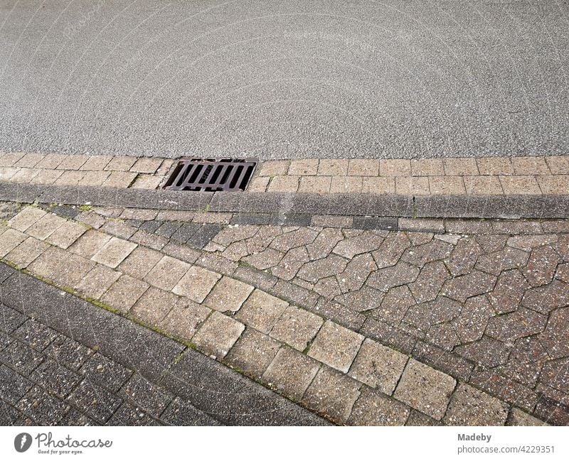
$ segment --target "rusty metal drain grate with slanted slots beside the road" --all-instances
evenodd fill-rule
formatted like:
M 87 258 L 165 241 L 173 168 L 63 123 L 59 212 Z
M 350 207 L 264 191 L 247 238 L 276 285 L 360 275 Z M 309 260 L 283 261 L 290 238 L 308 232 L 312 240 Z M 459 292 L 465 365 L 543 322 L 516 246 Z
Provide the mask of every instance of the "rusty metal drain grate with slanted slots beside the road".
M 258 158 L 181 158 L 164 189 L 206 192 L 245 190 Z

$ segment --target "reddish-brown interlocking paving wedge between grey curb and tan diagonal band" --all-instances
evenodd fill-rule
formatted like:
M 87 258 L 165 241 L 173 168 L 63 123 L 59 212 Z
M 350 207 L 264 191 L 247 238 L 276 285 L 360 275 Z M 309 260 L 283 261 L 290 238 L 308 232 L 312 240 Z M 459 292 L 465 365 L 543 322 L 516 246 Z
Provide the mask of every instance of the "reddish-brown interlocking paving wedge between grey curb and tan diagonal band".
M 50 210 L 68 215 L 78 213 L 73 207 L 50 207 Z M 207 215 L 211 222 L 219 214 L 208 212 Z M 180 222 L 186 218 L 191 219 L 186 212 L 124 210 L 120 207 L 94 207 L 77 215 L 77 219 L 90 222 L 117 237 L 144 242 L 156 249 L 167 247 L 171 254 L 178 247 L 174 242 L 181 244 L 187 240 L 184 245 L 186 253 L 188 246 L 193 250 L 203 248 L 197 256 L 192 256 L 192 261 L 198 259 L 201 266 L 251 283 L 366 337 L 396 347 L 440 371 L 530 411 L 538 418 L 555 421 L 556 424 L 566 423 L 564 376 L 567 359 L 563 358 L 566 355 L 563 338 L 569 309 L 564 306 L 569 302 L 569 291 L 566 285 L 568 264 L 563 260 L 567 260 L 569 242 L 567 220 L 440 220 L 444 227 L 452 229 L 453 234 L 432 234 L 363 232 L 329 227 L 223 227 Z M 203 220 L 206 219 L 200 214 L 198 221 Z M 425 224 L 421 219 L 417 221 L 418 225 Z M 471 235 L 460 235 L 462 233 Z M 209 237 L 202 239 L 203 234 Z M 317 234 L 319 237 L 314 239 Z M 398 242 L 407 244 L 400 246 Z M 408 245 L 411 246 L 406 249 Z M 452 251 L 452 260 L 447 261 L 445 254 L 450 246 L 456 248 Z M 488 252 L 482 257 L 484 262 L 482 259 L 478 261 L 482 247 Z M 281 253 L 287 249 L 286 255 Z M 447 251 L 441 252 L 441 249 Z M 520 259 L 521 249 L 531 251 L 533 256 Z M 305 265 L 303 251 L 304 256 L 308 252 L 314 261 Z M 362 252 L 364 254 L 354 256 Z M 366 286 L 357 291 L 361 283 L 366 284 L 372 257 L 379 266 L 399 264 L 408 269 L 412 267 L 398 263 L 399 257 L 415 266 L 438 260 L 425 265 L 426 277 L 430 277 L 429 268 L 433 265 L 442 267 L 441 264 L 446 264 L 454 276 L 458 276 L 457 269 L 461 268 L 460 273 L 468 272 L 479 262 L 483 271 L 489 271 L 486 282 L 490 290 L 495 281 L 492 273 L 496 270 L 505 272 L 494 291 L 469 298 L 462 309 L 447 296 L 440 298 L 442 303 L 438 305 L 423 304 L 408 309 L 414 296 L 425 298 L 435 295 L 433 286 L 436 288 L 437 282 L 425 285 L 427 279 L 420 276 L 423 282 L 410 285 L 415 293 L 412 295 L 408 288 L 400 286 L 409 280 L 395 272 L 391 279 L 396 286 L 390 288 L 390 293 Z M 361 264 L 362 259 L 367 259 L 368 263 Z M 489 261 L 493 262 L 488 264 Z M 526 262 L 527 267 L 523 266 Z M 319 268 L 313 267 L 315 264 Z M 345 273 L 338 273 L 344 264 L 347 264 Z M 512 267 L 522 266 L 513 271 L 507 270 L 512 264 Z M 295 276 L 304 266 L 311 266 L 314 270 L 303 269 L 299 274 L 302 276 Z M 334 283 L 328 281 L 329 276 L 334 278 L 334 274 L 338 283 L 336 288 L 343 287 L 349 293 L 339 295 L 336 298 L 338 303 L 329 303 L 326 298 L 329 298 L 329 288 L 334 288 Z M 480 275 L 477 270 L 472 274 L 475 278 Z M 324 278 L 326 283 L 309 283 L 307 280 L 314 276 Z M 528 281 L 525 281 L 526 277 Z M 486 291 L 482 286 L 469 283 L 469 276 L 454 278 L 454 281 L 459 280 L 464 281 L 464 286 L 454 290 L 454 298 L 458 296 L 462 300 L 464 295 L 469 295 L 467 292 L 472 295 L 472 290 Z M 527 283 L 538 287 L 531 289 L 520 303 L 521 295 L 529 288 Z M 421 284 L 423 288 L 420 288 Z M 528 305 L 529 309 L 523 305 Z M 391 315 L 385 317 L 384 308 Z M 414 324 L 419 322 L 416 325 L 420 326 L 426 322 L 427 326 L 434 325 L 425 330 L 425 325 L 418 328 L 407 322 L 397 323 L 393 314 L 405 313 L 405 310 L 414 313 Z M 546 321 L 542 314 L 547 312 L 549 319 Z M 445 322 L 450 318 L 453 320 Z M 430 335 L 433 329 L 435 334 Z M 453 333 L 453 330 L 456 331 Z M 453 347 L 459 338 L 459 342 L 466 341 L 467 344 Z

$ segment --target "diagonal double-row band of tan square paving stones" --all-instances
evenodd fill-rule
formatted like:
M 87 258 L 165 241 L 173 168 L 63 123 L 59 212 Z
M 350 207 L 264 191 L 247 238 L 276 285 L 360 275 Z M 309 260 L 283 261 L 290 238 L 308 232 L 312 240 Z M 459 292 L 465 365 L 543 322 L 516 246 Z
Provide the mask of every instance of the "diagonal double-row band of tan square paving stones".
M 254 286 L 84 224 L 24 207 L 0 228 L 0 257 L 171 335 L 336 423 L 541 424 Z M 413 412 L 418 410 L 420 413 Z

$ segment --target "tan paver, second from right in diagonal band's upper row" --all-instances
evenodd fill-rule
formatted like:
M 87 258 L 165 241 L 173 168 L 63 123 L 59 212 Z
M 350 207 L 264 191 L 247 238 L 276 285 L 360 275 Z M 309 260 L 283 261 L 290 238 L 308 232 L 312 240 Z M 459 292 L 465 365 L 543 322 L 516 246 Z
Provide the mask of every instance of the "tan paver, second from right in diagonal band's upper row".
M 506 403 L 459 383 L 443 421 L 448 425 L 504 425 L 508 412 Z

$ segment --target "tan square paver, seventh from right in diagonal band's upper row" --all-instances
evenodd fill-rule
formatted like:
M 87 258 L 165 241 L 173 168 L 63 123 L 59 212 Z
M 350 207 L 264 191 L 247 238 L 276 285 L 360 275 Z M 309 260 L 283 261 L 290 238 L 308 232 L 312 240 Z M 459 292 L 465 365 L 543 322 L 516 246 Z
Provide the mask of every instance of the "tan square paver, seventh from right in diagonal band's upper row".
M 267 335 L 288 305 L 289 303 L 275 296 L 254 290 L 235 318 Z

